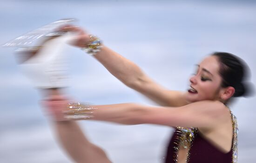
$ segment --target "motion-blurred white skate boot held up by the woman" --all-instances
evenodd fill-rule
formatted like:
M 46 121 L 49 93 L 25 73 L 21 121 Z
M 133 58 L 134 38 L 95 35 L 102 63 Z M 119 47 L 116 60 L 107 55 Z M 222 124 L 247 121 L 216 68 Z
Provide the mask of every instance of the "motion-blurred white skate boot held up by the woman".
M 22 72 L 35 88 L 64 88 L 68 86 L 65 48 L 74 34 L 53 38 L 43 44 L 38 54 L 20 64 Z

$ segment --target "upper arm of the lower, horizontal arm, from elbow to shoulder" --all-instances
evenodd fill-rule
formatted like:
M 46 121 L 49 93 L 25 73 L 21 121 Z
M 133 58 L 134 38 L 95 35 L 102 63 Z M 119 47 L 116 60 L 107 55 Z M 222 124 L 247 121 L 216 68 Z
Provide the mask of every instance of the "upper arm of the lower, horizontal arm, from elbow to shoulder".
M 215 127 L 221 123 L 228 109 L 218 101 L 199 101 L 183 107 L 145 109 L 142 123 L 182 127 Z

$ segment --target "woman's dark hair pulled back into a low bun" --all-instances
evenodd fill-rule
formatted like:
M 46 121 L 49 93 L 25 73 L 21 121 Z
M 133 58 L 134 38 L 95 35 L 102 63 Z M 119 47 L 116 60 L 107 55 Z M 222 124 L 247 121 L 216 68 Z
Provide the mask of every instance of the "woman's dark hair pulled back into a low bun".
M 234 87 L 235 93 L 233 97 L 248 95 L 249 87 L 244 81 L 249 70 L 247 64 L 238 56 L 226 52 L 215 52 L 212 56 L 217 56 L 220 62 L 221 86 L 223 88 Z

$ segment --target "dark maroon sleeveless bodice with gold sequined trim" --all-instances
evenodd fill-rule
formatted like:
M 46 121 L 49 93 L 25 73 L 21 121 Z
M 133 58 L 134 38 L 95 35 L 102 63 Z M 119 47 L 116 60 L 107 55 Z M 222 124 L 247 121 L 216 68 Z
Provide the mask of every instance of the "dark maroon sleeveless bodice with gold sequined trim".
M 168 146 L 165 163 L 177 163 L 179 149 L 188 149 L 186 163 L 237 163 L 237 122 L 230 111 L 233 124 L 232 148 L 228 153 L 216 149 L 196 128 L 176 127 Z

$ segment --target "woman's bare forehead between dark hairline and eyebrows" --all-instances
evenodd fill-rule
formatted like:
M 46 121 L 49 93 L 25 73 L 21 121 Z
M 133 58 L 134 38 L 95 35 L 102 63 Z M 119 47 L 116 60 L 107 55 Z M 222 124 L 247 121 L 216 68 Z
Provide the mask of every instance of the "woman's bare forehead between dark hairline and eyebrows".
M 216 56 L 208 56 L 199 63 L 200 69 L 207 69 L 212 74 L 218 74 L 219 62 Z

